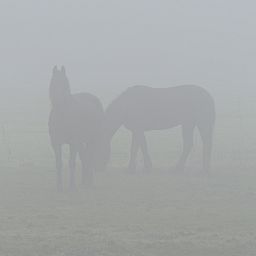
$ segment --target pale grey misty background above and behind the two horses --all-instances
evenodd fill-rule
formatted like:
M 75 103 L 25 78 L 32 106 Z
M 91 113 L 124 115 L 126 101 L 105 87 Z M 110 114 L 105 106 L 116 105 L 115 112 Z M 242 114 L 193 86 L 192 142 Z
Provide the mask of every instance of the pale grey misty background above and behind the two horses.
M 63 64 L 72 92 L 94 93 L 104 106 L 132 85 L 203 86 L 215 98 L 217 131 L 229 137 L 229 150 L 239 147 L 239 157 L 255 152 L 253 1 L 1 1 L 0 7 L 1 123 L 10 137 L 16 122 L 47 133 L 50 75 Z

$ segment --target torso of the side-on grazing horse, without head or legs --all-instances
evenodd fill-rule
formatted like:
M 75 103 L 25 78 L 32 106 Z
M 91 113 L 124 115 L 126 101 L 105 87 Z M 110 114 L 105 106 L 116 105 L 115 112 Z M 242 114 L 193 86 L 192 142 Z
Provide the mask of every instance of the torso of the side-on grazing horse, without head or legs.
M 196 85 L 168 88 L 134 86 L 113 102 L 112 109 L 122 111 L 128 129 L 167 129 L 186 122 L 214 120 L 214 101 Z

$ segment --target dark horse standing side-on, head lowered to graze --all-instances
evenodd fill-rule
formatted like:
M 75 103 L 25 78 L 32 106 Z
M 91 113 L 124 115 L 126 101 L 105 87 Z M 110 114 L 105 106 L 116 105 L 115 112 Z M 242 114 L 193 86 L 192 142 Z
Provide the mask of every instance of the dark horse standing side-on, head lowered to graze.
M 129 170 L 136 168 L 136 156 L 141 149 L 146 170 L 152 168 L 144 132 L 182 127 L 183 153 L 176 170 L 183 170 L 193 146 L 194 128 L 203 141 L 203 170 L 210 168 L 215 107 L 209 93 L 194 85 L 170 88 L 134 86 L 117 97 L 106 109 L 106 155 L 110 156 L 110 141 L 124 125 L 132 132 Z

